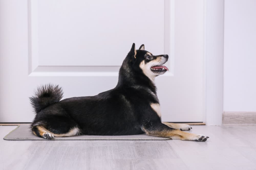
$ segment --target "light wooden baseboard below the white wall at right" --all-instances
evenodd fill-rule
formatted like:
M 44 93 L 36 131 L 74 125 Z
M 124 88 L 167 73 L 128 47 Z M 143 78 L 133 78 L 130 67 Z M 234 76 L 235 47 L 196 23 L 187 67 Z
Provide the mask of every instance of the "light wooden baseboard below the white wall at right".
M 223 126 L 256 126 L 256 112 L 223 112 Z

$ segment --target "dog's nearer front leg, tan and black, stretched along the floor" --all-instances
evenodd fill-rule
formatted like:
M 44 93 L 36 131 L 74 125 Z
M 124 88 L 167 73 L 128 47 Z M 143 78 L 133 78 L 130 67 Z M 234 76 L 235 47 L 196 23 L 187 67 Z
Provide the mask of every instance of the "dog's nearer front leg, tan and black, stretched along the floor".
M 148 136 L 168 137 L 178 140 L 206 141 L 208 136 L 197 135 L 173 129 L 161 122 L 145 121 L 142 125 L 143 131 Z

